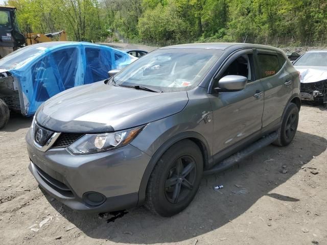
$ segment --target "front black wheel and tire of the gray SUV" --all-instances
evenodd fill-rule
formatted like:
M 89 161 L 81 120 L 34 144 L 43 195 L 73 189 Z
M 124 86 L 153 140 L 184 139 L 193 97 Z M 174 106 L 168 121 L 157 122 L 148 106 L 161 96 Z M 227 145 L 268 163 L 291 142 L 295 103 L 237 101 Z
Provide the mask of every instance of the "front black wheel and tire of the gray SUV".
M 161 156 L 151 173 L 145 206 L 165 217 L 181 212 L 195 197 L 202 173 L 203 157 L 198 146 L 188 139 L 175 143 Z

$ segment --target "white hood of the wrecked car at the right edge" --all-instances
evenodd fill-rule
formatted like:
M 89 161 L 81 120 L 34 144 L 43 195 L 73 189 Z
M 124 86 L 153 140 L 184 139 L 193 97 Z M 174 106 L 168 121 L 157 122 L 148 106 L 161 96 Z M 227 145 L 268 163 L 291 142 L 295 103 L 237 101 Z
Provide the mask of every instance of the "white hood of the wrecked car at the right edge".
M 327 79 L 327 66 L 294 66 L 301 72 L 301 83 L 314 83 Z

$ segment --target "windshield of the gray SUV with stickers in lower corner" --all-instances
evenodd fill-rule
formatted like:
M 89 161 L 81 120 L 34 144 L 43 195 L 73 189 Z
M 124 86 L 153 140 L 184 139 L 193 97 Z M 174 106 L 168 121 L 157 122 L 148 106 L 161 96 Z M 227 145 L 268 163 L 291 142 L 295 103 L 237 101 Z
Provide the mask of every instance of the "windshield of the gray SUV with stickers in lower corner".
M 115 85 L 146 86 L 163 92 L 197 86 L 223 51 L 168 49 L 154 51 L 114 77 Z

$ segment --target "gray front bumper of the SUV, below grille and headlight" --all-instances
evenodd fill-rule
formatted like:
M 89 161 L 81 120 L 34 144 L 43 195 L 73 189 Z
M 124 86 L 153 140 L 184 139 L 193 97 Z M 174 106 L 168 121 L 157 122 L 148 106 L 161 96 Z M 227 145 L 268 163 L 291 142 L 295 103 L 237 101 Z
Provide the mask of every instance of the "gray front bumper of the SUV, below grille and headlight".
M 78 211 L 116 211 L 138 203 L 138 189 L 150 156 L 132 145 L 104 153 L 72 155 L 65 149 L 39 151 L 26 135 L 29 169 L 39 185 L 52 197 Z M 98 192 L 105 201 L 90 206 L 86 192 Z

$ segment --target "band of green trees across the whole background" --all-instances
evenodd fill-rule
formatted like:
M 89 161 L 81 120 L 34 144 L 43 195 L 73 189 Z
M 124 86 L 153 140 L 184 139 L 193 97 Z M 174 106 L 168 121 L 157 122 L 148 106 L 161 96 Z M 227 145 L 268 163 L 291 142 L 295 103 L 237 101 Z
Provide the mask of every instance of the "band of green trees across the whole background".
M 23 31 L 71 40 L 253 41 L 325 38 L 326 0 L 9 0 Z

